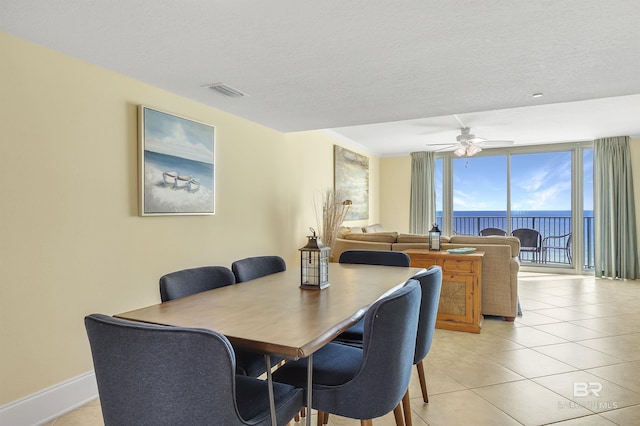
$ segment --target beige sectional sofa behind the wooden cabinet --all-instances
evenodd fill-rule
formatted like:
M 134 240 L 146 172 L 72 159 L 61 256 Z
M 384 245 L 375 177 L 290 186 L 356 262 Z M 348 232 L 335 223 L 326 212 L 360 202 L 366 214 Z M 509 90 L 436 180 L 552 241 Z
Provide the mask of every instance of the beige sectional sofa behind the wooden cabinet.
M 368 232 L 363 232 L 363 231 Z M 378 232 L 373 232 L 378 231 Z M 453 235 L 442 237 L 442 249 L 475 247 L 485 253 L 482 260 L 482 313 L 509 320 L 518 313 L 518 271 L 520 241 L 515 237 Z M 333 246 L 332 257 L 338 261 L 345 250 L 428 249 L 427 235 L 386 232 L 380 225 L 341 228 Z

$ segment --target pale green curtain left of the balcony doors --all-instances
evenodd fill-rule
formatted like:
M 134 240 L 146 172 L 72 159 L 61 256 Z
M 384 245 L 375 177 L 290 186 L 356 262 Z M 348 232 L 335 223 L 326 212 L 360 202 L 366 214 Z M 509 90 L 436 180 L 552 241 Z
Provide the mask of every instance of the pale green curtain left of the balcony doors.
M 409 232 L 426 234 L 436 219 L 433 152 L 411 153 L 411 205 Z

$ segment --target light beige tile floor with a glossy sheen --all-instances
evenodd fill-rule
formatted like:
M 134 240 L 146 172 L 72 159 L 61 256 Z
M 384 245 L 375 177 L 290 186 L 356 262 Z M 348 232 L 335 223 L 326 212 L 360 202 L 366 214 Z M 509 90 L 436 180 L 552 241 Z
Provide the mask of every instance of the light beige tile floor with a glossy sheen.
M 436 330 L 429 404 L 415 371 L 410 386 L 413 424 L 640 425 L 640 282 L 521 273 L 519 283 L 515 323 Z M 329 424 L 359 422 L 331 415 Z M 374 424 L 395 422 L 389 414 Z M 99 402 L 48 425 L 103 425 Z

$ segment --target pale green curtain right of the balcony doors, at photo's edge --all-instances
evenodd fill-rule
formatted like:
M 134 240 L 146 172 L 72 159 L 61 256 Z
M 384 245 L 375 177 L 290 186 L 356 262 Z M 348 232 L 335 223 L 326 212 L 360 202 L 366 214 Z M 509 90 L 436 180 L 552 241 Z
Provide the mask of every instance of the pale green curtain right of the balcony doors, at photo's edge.
M 638 243 L 629 137 L 593 141 L 596 277 L 637 279 Z

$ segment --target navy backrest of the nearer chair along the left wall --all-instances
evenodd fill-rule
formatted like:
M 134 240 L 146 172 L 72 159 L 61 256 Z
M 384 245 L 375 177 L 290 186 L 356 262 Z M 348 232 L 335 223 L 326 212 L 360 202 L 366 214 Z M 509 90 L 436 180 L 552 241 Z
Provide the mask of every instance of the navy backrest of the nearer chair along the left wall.
M 171 272 L 160 278 L 163 302 L 213 290 L 236 282 L 233 272 L 224 266 L 202 266 Z

